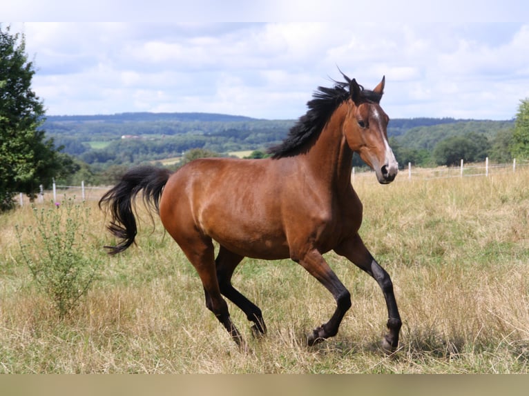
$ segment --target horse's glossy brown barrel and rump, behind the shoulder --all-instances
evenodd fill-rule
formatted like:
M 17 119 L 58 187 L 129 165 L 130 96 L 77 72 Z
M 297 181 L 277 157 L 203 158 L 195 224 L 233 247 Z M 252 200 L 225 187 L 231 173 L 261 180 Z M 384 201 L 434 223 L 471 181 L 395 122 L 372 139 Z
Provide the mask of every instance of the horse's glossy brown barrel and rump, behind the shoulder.
M 202 159 L 187 164 L 164 190 L 164 195 L 171 195 L 166 197 L 167 206 L 175 217 L 172 235 L 186 232 L 182 227 L 189 230 L 192 222 L 200 234 L 238 255 L 289 257 L 282 187 L 273 169 L 266 160 Z

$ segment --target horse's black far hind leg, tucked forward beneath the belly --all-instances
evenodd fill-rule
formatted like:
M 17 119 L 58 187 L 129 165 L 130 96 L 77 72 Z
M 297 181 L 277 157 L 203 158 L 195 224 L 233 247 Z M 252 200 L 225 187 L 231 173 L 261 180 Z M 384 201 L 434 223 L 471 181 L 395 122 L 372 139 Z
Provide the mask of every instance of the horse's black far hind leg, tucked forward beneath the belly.
M 249 321 L 253 321 L 251 330 L 253 335 L 259 337 L 267 333 L 267 326 L 265 326 L 264 320 L 262 319 L 261 310 L 231 284 L 233 271 L 243 258 L 227 250 L 224 246 L 220 246 L 217 259 L 215 259 L 217 279 L 220 286 L 220 293 L 238 306 L 246 314 Z

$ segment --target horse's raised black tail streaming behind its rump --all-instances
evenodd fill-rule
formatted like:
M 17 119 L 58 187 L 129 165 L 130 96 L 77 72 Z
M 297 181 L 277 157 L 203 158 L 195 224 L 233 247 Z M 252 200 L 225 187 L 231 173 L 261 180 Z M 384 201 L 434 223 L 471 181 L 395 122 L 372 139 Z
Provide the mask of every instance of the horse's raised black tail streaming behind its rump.
M 105 206 L 110 210 L 112 221 L 108 230 L 122 241 L 117 246 L 105 246 L 108 253 L 115 255 L 126 250 L 134 243 L 137 234 L 136 219 L 133 212 L 133 201 L 142 191 L 146 206 L 159 210 L 160 197 L 171 172 L 154 166 L 140 166 L 126 172 L 121 181 L 108 190 L 99 200 L 99 208 Z

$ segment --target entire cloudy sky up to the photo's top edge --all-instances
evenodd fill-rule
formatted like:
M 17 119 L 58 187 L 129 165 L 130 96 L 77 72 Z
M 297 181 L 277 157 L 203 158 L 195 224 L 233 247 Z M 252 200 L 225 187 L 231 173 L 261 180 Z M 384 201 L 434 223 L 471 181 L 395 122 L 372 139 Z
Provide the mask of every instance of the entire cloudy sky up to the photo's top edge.
M 511 119 L 529 97 L 526 0 L 8 3 L 5 20 L 64 20 L 8 22 L 26 35 L 48 115 L 296 119 L 337 66 L 366 88 L 385 75 L 392 118 Z M 130 22 L 92 22 L 106 19 Z

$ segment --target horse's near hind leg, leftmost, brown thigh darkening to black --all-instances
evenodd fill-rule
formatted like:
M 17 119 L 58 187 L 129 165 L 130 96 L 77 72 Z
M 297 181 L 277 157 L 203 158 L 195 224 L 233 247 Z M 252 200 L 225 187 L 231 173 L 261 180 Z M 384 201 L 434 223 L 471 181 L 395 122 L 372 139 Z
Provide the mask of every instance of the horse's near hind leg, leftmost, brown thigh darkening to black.
M 215 271 L 214 248 L 211 239 L 186 240 L 186 244 L 180 245 L 186 257 L 195 267 L 204 286 L 206 307 L 215 314 L 215 317 L 228 330 L 229 335 L 241 348 L 246 348 L 239 330 L 231 322 L 228 304 L 220 295 L 220 286 Z

